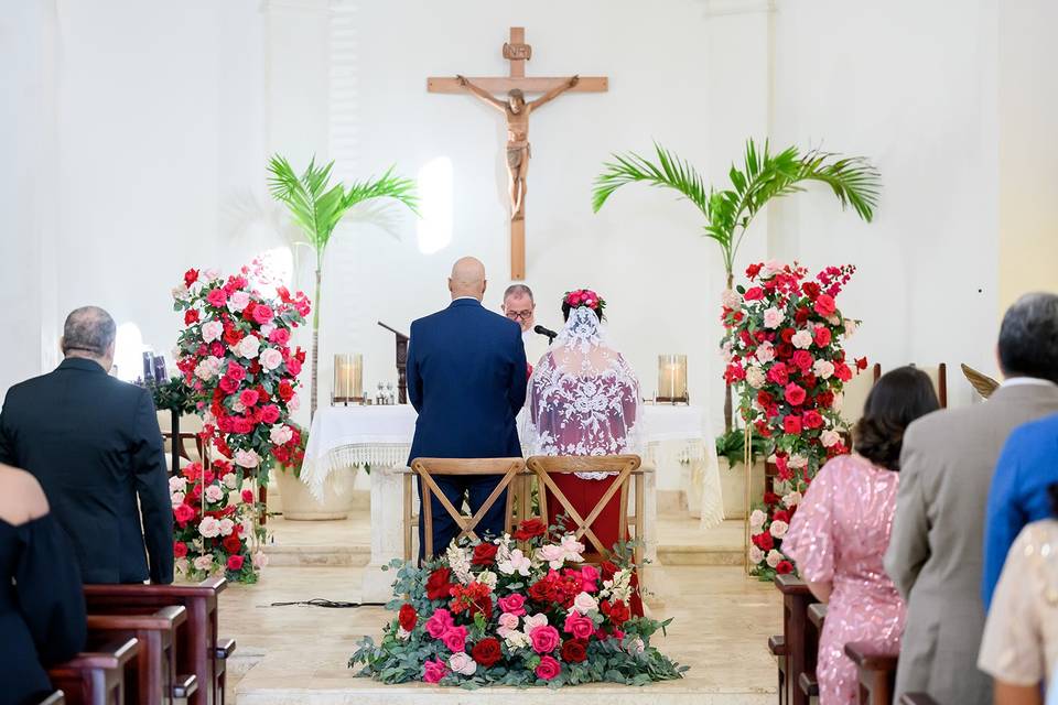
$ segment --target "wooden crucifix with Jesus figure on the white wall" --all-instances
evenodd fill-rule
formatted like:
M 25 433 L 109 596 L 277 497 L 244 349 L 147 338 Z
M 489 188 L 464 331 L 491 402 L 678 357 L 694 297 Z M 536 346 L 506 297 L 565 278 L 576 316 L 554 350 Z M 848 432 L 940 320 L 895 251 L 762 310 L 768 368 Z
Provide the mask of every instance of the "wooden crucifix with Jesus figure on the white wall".
M 601 93 L 607 88 L 606 77 L 572 76 L 570 78 L 527 77 L 526 62 L 532 47 L 526 44 L 526 30 L 510 28 L 510 41 L 504 44 L 504 58 L 510 62 L 510 75 L 488 78 L 435 77 L 427 79 L 430 93 L 469 93 L 486 105 L 501 111 L 507 119 L 507 174 L 510 195 L 510 278 L 526 278 L 526 176 L 529 172 L 529 116 L 565 91 Z M 494 94 L 506 93 L 506 99 Z M 527 93 L 543 94 L 526 101 Z

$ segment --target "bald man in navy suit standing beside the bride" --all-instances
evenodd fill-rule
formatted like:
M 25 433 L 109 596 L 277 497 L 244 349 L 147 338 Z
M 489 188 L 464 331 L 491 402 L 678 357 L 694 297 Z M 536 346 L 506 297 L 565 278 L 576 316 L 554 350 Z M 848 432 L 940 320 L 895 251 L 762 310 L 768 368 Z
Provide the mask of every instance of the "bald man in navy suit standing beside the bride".
M 515 416 L 526 403 L 526 349 L 514 321 L 482 306 L 485 267 L 474 258 L 452 267 L 452 304 L 411 324 L 408 397 L 419 420 L 408 463 L 419 457 L 520 457 Z M 455 506 L 464 496 L 476 513 L 499 477 L 435 477 Z M 420 488 L 421 489 L 421 488 Z M 478 524 L 478 533 L 504 531 L 506 495 Z M 458 533 L 455 521 L 433 498 L 433 550 L 442 553 Z M 419 516 L 422 517 L 420 499 Z M 423 555 L 419 523 L 419 556 Z

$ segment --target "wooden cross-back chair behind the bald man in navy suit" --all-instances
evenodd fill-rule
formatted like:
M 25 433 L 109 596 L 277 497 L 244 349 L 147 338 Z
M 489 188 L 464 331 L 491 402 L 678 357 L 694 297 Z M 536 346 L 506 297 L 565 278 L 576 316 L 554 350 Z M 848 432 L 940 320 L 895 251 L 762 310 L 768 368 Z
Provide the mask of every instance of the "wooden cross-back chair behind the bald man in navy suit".
M 475 529 L 477 524 L 482 521 L 485 514 L 493 508 L 493 505 L 499 499 L 499 496 L 504 494 L 505 489 L 515 489 L 515 486 L 518 484 L 517 480 L 522 471 L 526 469 L 526 463 L 521 458 L 415 458 L 411 462 L 411 469 L 414 475 L 418 475 L 421 480 L 421 491 L 422 491 L 422 517 L 420 518 L 423 522 L 423 555 L 428 558 L 433 556 L 433 501 L 432 498 L 434 495 L 438 497 L 438 501 L 441 502 L 441 506 L 444 508 L 449 516 L 452 517 L 452 520 L 455 521 L 456 525 L 460 528 L 460 533 L 455 536 L 455 541 L 461 539 L 468 538 L 475 541 L 479 541 L 481 536 L 477 535 Z M 496 488 L 492 494 L 486 498 L 486 500 L 478 508 L 477 513 L 473 517 L 466 517 L 456 509 L 449 498 L 445 497 L 444 492 L 441 491 L 441 488 L 438 486 L 436 480 L 433 479 L 435 475 L 499 475 L 500 480 L 496 485 Z M 411 474 L 404 476 L 404 517 L 406 519 L 412 516 L 411 499 L 412 499 L 412 486 L 411 486 Z M 514 513 L 514 492 L 507 492 L 506 500 L 506 512 L 504 518 L 504 530 L 507 533 L 511 531 L 511 518 Z M 404 560 L 411 560 L 411 525 L 406 523 L 404 525 Z

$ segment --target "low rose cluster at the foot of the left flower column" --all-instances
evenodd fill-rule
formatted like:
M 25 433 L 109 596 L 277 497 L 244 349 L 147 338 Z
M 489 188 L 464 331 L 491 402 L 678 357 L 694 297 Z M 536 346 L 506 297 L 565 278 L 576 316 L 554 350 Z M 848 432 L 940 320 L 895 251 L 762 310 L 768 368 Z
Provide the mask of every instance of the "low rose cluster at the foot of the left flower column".
M 192 463 L 169 479 L 169 492 L 177 575 L 197 582 L 223 573 L 229 581 L 256 583 L 267 563 L 260 550 L 264 530 L 256 522 L 253 491 L 244 489 L 231 464 Z

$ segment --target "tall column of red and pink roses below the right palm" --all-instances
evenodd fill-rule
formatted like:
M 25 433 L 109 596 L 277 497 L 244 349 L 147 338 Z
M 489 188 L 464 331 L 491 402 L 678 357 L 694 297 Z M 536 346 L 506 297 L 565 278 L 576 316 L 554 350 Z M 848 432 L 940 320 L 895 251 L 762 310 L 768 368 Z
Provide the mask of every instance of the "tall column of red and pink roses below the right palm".
M 741 415 L 769 447 L 777 489 L 753 512 L 754 574 L 791 573 L 781 542 L 801 495 L 828 459 L 848 453 L 842 389 L 866 358 L 850 364 L 842 341 L 859 322 L 844 318 L 836 296 L 855 267 L 828 267 L 814 279 L 796 263 L 752 264 L 749 286 L 723 294 L 724 378 L 737 384 Z

